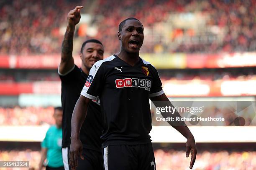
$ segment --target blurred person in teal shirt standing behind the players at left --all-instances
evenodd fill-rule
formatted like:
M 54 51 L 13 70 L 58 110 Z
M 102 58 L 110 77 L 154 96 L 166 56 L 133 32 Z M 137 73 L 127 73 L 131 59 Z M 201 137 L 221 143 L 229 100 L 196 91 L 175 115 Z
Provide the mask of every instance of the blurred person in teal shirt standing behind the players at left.
M 41 160 L 39 163 L 39 170 L 41 170 L 44 165 L 46 166 L 46 170 L 64 170 L 61 154 L 62 108 L 55 107 L 53 116 L 56 125 L 51 126 L 47 130 L 44 141 L 41 143 Z M 44 160 L 46 160 L 46 164 L 44 164 Z

